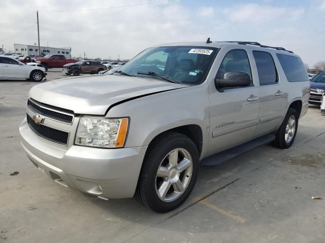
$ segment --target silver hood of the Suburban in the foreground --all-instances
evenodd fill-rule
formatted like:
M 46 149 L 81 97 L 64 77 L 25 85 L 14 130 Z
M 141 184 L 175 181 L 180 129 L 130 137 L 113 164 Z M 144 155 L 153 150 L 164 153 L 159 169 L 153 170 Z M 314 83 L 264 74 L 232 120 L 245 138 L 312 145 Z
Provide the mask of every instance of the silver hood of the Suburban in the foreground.
M 123 100 L 188 87 L 163 80 L 124 75 L 87 75 L 36 85 L 29 97 L 79 114 L 105 115 Z

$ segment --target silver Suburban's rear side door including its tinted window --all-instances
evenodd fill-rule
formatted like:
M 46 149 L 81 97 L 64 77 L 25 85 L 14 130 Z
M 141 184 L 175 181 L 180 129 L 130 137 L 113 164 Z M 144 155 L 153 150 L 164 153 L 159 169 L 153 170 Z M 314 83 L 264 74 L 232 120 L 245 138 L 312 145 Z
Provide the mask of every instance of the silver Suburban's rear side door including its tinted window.
M 265 51 L 253 51 L 259 83 L 259 124 L 254 137 L 275 131 L 281 124 L 288 93 L 279 80 L 274 60 L 276 56 Z M 281 82 L 282 81 L 282 82 Z

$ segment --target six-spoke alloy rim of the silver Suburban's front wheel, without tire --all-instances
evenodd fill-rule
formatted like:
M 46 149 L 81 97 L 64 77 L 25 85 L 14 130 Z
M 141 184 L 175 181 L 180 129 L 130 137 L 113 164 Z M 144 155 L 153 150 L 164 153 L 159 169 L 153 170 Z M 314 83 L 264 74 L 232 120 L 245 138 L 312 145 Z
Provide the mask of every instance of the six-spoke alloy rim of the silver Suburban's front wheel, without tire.
M 192 177 L 193 160 L 184 148 L 170 151 L 158 167 L 155 188 L 160 200 L 170 202 L 179 198 Z

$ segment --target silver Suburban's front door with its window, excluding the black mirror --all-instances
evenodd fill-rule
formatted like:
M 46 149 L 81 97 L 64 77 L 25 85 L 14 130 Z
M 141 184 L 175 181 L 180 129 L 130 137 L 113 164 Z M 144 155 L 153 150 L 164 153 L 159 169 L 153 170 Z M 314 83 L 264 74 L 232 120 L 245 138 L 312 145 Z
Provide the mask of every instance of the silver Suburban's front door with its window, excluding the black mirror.
M 247 52 L 243 49 L 222 51 L 219 55 L 224 58 L 216 78 L 223 79 L 229 72 L 245 72 L 250 76 L 251 85 L 218 91 L 211 82 L 209 155 L 251 140 L 258 124 L 258 87 L 254 86 Z

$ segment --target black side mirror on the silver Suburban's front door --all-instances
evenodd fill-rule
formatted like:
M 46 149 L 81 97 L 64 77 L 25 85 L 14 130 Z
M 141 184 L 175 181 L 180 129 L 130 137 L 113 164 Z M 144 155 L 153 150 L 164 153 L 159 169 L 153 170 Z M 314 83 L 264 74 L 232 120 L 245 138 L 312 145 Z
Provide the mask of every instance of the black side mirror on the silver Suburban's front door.
M 226 72 L 224 73 L 223 79 L 216 77 L 214 84 L 217 90 L 223 92 L 223 88 L 250 86 L 251 79 L 245 72 Z

